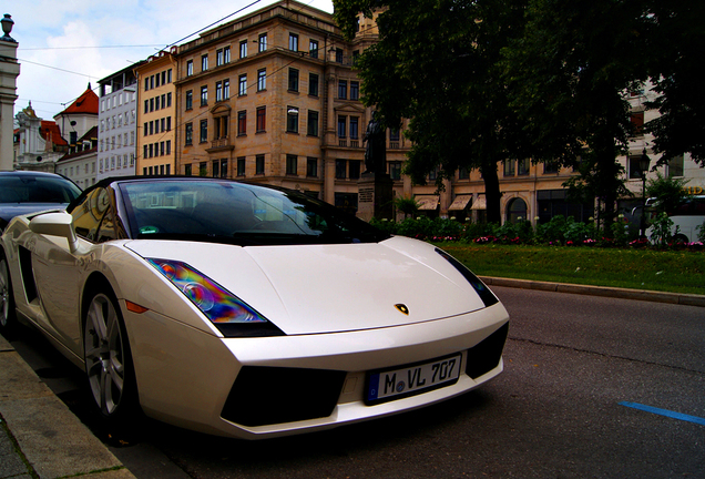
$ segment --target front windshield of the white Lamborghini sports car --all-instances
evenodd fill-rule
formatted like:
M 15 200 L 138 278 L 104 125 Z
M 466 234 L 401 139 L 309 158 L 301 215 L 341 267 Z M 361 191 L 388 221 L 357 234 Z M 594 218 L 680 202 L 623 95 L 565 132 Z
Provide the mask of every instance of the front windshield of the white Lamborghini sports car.
M 120 184 L 134 238 L 241 245 L 371 243 L 388 235 L 308 196 L 236 182 Z

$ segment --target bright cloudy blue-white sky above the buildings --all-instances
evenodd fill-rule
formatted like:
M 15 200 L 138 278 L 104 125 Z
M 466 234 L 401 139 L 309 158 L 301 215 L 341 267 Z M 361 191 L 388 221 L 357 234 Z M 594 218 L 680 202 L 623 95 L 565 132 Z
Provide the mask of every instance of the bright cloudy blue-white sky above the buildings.
M 21 0 L 6 2 L 19 42 L 14 112 L 32 108 L 51 120 L 98 80 L 146 59 L 210 24 L 276 0 Z M 331 0 L 299 2 L 333 12 Z M 237 13 L 236 13 L 237 12 Z M 235 13 L 235 14 L 233 14 Z M 232 16 L 232 17 L 231 17 Z M 98 93 L 98 91 L 96 91 Z

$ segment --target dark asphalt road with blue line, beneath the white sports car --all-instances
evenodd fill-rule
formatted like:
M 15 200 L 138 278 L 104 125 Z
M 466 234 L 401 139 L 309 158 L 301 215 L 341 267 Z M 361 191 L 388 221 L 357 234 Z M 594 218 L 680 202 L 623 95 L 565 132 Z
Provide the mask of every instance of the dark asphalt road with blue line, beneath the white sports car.
M 705 477 L 705 309 L 494 291 L 511 316 L 495 380 L 422 410 L 255 442 L 151 420 L 135 436 L 102 430 L 82 412 L 80 375 L 37 356 L 48 348 L 34 336 L 13 344 L 139 478 Z

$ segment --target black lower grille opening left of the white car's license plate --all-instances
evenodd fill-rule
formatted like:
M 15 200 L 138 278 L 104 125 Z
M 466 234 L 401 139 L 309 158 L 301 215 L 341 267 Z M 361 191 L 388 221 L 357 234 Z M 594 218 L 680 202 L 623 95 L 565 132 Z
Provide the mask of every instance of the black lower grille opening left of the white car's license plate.
M 243 426 L 267 426 L 328 417 L 345 371 L 245 366 L 221 416 Z

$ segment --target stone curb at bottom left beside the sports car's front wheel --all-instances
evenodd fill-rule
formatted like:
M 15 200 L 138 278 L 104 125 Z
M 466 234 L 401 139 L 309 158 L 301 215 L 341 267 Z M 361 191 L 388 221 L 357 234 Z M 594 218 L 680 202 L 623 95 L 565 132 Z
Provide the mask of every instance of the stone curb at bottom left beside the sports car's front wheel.
M 13 450 L 16 463 L 41 479 L 134 479 L 88 427 L 37 376 L 12 345 L 0 336 L 0 446 Z M 19 450 L 18 450 L 19 449 Z M 4 462 L 4 461 L 3 461 Z M 0 477 L 30 477 L 27 470 Z M 23 475 L 20 472 L 24 472 Z

